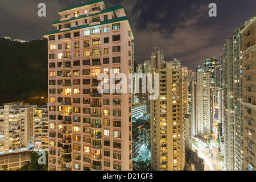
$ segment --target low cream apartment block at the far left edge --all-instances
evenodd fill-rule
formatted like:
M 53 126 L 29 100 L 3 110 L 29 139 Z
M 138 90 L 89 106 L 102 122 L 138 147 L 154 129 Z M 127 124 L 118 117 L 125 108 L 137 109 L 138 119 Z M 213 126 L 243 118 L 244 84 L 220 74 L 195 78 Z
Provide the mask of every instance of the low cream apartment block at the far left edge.
M 23 101 L 0 106 L 0 154 L 33 147 L 33 109 Z

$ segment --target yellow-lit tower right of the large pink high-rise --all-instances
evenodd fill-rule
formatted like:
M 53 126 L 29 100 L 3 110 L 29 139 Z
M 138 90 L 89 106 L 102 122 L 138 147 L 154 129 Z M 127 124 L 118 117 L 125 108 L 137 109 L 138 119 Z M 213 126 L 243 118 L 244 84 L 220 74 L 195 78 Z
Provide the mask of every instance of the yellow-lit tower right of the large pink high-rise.
M 183 171 L 185 166 L 185 74 L 172 63 L 153 68 L 159 74 L 159 97 L 150 101 L 151 169 Z M 152 83 L 154 84 L 154 83 Z

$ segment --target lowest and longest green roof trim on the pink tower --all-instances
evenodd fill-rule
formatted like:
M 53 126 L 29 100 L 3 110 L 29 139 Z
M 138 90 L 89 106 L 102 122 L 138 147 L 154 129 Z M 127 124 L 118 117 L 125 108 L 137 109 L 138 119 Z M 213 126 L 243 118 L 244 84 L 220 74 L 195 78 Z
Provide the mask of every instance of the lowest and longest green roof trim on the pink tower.
M 58 33 L 68 32 L 68 31 L 73 31 L 73 30 L 79 30 L 79 29 L 82 29 L 82 28 L 94 27 L 94 26 L 104 25 L 104 24 L 109 24 L 109 23 L 122 22 L 122 21 L 125 21 L 125 20 L 128 20 L 127 17 L 122 16 L 122 17 L 119 17 L 119 18 L 114 18 L 114 19 L 109 19 L 109 20 L 106 20 L 106 21 L 102 21 L 101 24 L 97 24 L 97 25 L 93 25 L 93 26 L 89 26 L 89 24 L 83 24 L 83 25 L 80 25 L 80 26 L 77 26 L 77 27 L 71 27 L 70 30 L 65 30 L 65 31 L 53 30 L 53 31 L 46 32 L 42 36 L 58 34 Z

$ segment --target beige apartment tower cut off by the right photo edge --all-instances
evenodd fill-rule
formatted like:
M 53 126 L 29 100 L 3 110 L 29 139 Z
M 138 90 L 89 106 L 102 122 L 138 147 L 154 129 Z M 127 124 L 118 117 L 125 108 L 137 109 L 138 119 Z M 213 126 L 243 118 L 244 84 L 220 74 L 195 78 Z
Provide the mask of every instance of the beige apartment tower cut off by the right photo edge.
M 256 16 L 241 30 L 242 106 L 243 106 L 243 169 L 256 171 Z

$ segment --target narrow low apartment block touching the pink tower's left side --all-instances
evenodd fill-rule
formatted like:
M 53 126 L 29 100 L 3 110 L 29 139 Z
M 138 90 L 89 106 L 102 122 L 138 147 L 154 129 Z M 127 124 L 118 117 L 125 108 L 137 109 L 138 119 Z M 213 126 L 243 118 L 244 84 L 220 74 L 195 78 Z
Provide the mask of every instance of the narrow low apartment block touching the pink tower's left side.
M 49 121 L 48 106 L 34 108 L 34 151 L 48 150 L 49 148 Z

